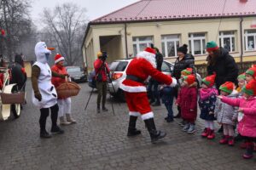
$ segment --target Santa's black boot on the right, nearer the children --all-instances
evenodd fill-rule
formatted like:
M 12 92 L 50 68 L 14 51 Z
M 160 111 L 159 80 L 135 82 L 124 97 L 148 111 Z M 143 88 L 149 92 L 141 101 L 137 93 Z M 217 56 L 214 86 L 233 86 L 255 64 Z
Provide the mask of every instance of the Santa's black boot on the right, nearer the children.
M 162 139 L 166 136 L 166 133 L 157 131 L 154 125 L 154 118 L 144 120 L 148 132 L 150 134 L 151 143 L 154 144 L 158 139 Z

